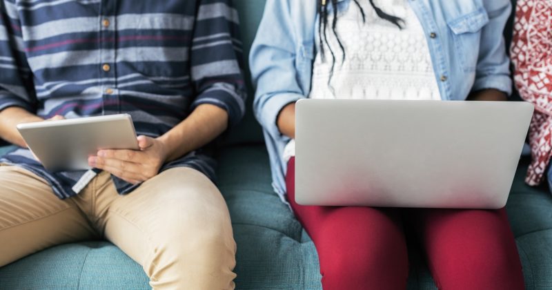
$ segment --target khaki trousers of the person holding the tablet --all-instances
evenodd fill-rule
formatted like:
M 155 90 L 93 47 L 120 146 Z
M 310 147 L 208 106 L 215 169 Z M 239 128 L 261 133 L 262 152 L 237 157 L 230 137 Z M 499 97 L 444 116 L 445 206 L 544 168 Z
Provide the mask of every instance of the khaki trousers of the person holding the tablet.
M 103 237 L 141 264 L 154 289 L 233 289 L 236 245 L 216 186 L 191 168 L 172 168 L 118 195 L 100 173 L 76 197 L 0 166 L 0 267 L 67 242 Z

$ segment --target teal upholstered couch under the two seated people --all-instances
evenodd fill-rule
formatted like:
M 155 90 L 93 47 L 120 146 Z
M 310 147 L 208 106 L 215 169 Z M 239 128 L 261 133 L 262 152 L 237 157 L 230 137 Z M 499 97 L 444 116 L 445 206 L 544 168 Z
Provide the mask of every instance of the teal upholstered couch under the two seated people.
M 235 0 L 248 47 L 264 0 Z M 247 51 L 246 51 L 247 52 Z M 253 96 L 253 93 L 250 94 Z M 270 186 L 261 128 L 249 112 L 219 151 L 218 185 L 237 242 L 237 289 L 321 289 L 313 242 Z M 3 148 L 3 151 L 9 150 Z M 552 289 L 552 197 L 515 175 L 507 205 L 527 289 Z M 408 289 L 435 289 L 416 244 L 409 244 Z M 484 258 L 484 257 L 482 257 Z M 63 244 L 0 269 L 0 289 L 149 289 L 139 264 L 105 241 Z

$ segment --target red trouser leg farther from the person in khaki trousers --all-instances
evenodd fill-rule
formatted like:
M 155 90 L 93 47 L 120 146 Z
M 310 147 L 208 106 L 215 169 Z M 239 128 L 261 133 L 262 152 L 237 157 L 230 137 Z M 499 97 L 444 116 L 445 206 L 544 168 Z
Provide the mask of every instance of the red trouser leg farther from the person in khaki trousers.
M 417 231 L 439 289 L 524 289 L 504 209 L 419 209 Z

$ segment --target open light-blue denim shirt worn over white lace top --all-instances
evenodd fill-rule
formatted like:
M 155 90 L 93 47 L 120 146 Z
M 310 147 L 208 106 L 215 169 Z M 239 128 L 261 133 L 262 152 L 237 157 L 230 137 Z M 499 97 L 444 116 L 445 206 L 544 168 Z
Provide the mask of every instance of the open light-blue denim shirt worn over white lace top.
M 426 32 L 433 70 L 444 100 L 465 100 L 476 90 L 494 88 L 511 94 L 511 78 L 502 32 L 511 12 L 509 0 L 408 0 Z M 338 0 L 337 14 L 355 8 Z M 333 12 L 333 7 L 329 7 Z M 273 187 L 285 202 L 282 159 L 290 140 L 276 125 L 287 104 L 311 90 L 315 0 L 267 0 L 250 52 L 250 70 L 257 87 L 253 108 L 264 128 Z M 338 23 L 339 25 L 339 23 Z

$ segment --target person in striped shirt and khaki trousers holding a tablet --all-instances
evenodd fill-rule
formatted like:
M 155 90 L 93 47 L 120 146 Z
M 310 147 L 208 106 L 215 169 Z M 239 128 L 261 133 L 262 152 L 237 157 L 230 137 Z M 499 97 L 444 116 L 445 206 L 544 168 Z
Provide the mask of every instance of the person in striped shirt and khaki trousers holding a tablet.
M 154 289 L 233 289 L 208 145 L 244 114 L 231 0 L 2 0 L 0 13 L 0 137 L 21 147 L 0 160 L 0 267 L 105 238 Z M 101 150 L 91 171 L 46 171 L 16 129 L 117 113 L 140 150 Z

